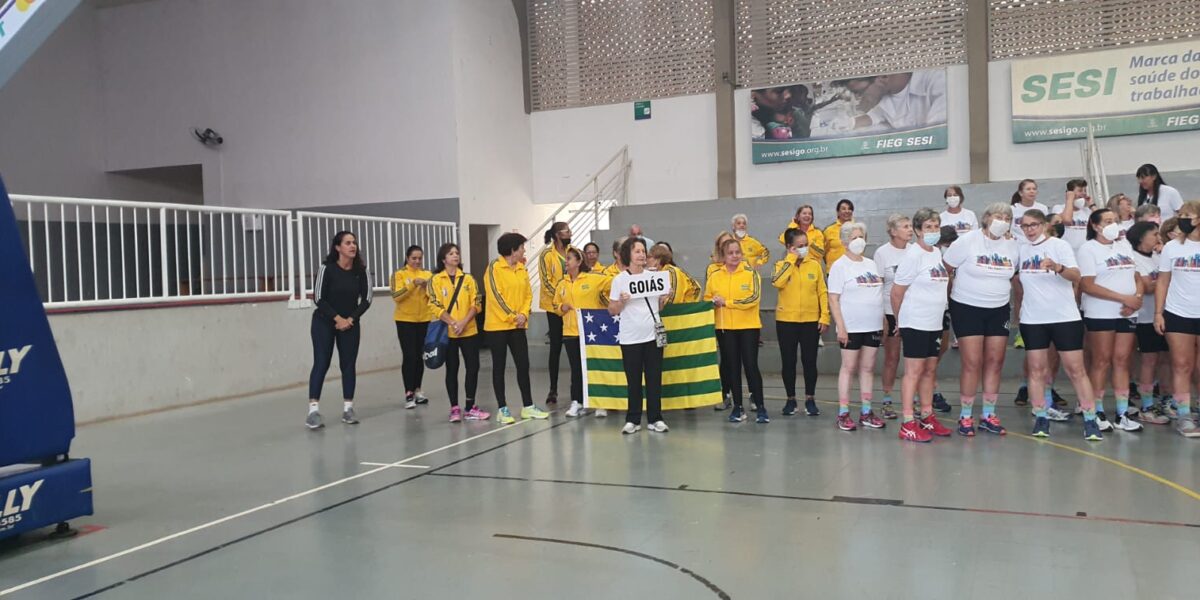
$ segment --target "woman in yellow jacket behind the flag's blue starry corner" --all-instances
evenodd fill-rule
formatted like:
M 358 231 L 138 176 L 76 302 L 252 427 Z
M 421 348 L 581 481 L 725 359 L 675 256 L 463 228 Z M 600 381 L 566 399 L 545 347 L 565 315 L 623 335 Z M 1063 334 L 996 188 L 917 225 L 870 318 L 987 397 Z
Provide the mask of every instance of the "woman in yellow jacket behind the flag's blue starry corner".
M 554 289 L 553 306 L 563 319 L 563 346 L 571 366 L 571 407 L 566 409 L 566 416 L 578 416 L 583 410 L 583 355 L 577 311 L 607 308 L 611 289 L 611 278 L 590 272 L 583 262 L 583 253 L 566 248 L 566 275 Z

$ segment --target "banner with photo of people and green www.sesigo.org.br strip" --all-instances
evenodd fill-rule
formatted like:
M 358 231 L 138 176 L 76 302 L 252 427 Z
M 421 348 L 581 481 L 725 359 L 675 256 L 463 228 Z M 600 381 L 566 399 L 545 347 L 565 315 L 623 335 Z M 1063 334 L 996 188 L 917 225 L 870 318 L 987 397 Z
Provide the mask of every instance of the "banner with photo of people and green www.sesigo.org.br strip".
M 946 70 L 750 91 L 754 163 L 947 146 Z

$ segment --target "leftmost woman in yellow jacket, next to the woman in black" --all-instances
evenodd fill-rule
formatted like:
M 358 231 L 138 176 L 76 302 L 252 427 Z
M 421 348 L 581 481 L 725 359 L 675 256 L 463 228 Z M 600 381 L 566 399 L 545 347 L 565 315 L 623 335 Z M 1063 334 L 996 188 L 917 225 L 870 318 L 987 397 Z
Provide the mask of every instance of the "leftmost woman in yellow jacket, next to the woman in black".
M 391 276 L 391 299 L 396 302 L 396 337 L 403 360 L 400 365 L 404 379 L 404 408 L 416 408 L 430 400 L 421 394 L 425 378 L 425 331 L 430 328 L 428 286 L 433 274 L 422 266 L 425 251 L 409 246 L 404 252 L 404 268 Z

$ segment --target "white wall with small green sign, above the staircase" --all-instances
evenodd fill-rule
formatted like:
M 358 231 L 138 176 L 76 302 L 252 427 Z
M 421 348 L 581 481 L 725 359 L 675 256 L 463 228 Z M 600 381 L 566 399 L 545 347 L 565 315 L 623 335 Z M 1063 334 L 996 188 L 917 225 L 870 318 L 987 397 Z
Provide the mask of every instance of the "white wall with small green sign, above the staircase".
M 560 204 L 629 145 L 629 203 L 716 198 L 716 96 L 650 102 L 652 118 L 634 120 L 634 103 L 534 113 L 533 190 Z M 748 130 L 749 131 L 749 130 Z

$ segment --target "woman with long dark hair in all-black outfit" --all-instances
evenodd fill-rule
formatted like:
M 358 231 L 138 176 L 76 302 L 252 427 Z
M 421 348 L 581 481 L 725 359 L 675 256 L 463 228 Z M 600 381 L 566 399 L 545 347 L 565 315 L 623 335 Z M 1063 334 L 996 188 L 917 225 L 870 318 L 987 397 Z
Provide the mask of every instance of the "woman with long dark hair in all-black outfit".
M 354 416 L 354 366 L 359 358 L 359 319 L 371 307 L 371 283 L 367 265 L 359 254 L 359 240 L 350 232 L 334 235 L 329 256 L 317 271 L 312 313 L 312 373 L 308 376 L 310 430 L 325 426 L 318 412 L 320 389 L 325 384 L 325 372 L 334 360 L 337 344 L 337 361 L 342 368 L 342 422 L 358 425 Z

